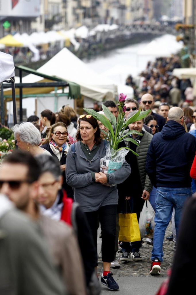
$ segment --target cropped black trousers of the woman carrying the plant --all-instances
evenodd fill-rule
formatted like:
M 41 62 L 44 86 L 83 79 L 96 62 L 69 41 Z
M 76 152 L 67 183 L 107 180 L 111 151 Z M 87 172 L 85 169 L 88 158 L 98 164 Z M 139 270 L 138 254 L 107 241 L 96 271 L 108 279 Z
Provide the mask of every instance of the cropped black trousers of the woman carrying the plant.
M 116 237 L 117 205 L 100 207 L 97 211 L 85 212 L 92 231 L 94 245 L 97 249 L 97 220 L 99 218 L 102 230 L 102 261 L 114 260 Z

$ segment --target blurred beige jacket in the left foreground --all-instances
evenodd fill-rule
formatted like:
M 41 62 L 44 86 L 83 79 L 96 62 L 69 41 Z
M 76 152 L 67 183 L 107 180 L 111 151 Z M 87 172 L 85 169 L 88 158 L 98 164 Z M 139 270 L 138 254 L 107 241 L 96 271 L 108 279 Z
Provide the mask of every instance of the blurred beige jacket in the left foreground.
M 86 295 L 82 258 L 72 228 L 44 215 L 40 215 L 39 224 L 67 291 L 71 295 Z

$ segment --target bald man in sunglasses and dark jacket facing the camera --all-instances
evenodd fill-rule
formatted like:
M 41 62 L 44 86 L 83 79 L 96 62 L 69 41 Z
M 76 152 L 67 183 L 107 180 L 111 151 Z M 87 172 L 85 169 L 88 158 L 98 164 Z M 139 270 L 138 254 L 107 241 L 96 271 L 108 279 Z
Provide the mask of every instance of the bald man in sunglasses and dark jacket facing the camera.
M 156 118 L 157 124 L 159 125 L 158 131 L 161 131 L 163 126 L 165 125 L 165 119 L 162 116 L 152 112 L 153 104 L 154 104 L 154 99 L 151 94 L 146 93 L 142 96 L 141 101 L 140 101 L 140 106 L 141 106 L 142 110 L 143 111 L 149 110 L 149 109 L 151 110 L 149 115 L 152 115 L 153 117 Z

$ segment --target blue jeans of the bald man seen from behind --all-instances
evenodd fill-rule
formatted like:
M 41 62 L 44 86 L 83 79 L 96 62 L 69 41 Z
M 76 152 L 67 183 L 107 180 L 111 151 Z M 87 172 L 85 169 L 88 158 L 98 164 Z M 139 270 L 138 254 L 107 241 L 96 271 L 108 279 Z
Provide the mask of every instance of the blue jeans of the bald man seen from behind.
M 175 208 L 176 236 L 178 235 L 182 209 L 186 199 L 190 196 L 190 191 L 190 188 L 157 187 L 152 260 L 158 258 L 161 262 L 163 261 L 163 239 L 172 217 L 173 208 Z

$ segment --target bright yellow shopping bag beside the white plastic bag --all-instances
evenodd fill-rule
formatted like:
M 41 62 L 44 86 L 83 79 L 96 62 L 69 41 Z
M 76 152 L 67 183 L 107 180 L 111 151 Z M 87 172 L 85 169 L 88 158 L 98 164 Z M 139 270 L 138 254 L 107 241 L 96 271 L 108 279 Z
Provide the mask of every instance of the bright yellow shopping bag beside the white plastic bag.
M 119 226 L 119 241 L 136 242 L 141 240 L 136 213 L 120 213 Z

